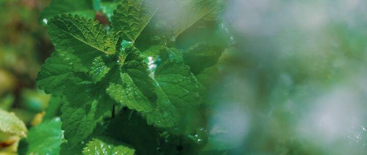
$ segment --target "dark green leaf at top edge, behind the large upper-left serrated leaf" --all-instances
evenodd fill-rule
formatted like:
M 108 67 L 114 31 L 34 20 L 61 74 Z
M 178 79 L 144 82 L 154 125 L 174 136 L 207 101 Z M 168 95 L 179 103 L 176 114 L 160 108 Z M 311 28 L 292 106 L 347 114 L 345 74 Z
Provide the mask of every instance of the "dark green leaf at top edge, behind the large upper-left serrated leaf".
M 80 15 L 92 19 L 95 16 L 90 0 L 52 0 L 41 12 L 39 21 L 47 24 L 47 20 L 62 13 L 71 13 L 73 15 Z

